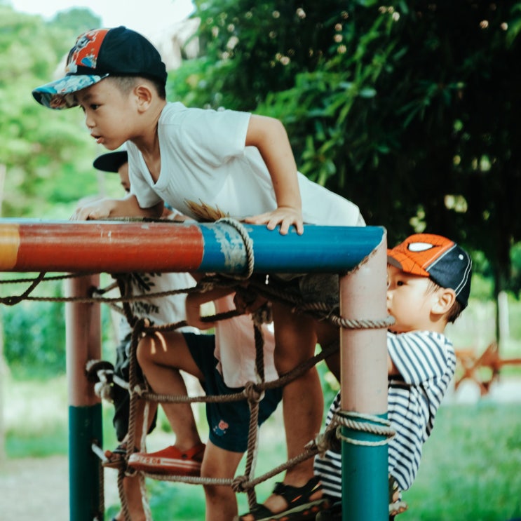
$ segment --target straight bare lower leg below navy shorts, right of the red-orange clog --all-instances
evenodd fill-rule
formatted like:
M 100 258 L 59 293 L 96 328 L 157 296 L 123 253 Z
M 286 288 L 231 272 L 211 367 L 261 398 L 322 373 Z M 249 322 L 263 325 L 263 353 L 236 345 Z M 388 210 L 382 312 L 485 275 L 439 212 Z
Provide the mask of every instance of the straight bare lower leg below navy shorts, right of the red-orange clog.
M 221 449 L 212 442 L 206 445 L 201 475 L 204 478 L 234 478 L 243 452 Z M 205 521 L 230 521 L 237 515 L 237 500 L 231 487 L 205 485 Z

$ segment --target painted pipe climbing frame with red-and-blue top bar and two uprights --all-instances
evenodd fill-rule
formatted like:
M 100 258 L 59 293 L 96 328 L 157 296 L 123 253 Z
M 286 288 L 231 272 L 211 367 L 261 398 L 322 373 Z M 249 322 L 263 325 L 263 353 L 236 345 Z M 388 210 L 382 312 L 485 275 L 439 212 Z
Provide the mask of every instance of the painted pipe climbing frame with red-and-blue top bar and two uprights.
M 100 475 L 93 442 L 101 442 L 101 407 L 88 381 L 100 358 L 100 316 L 92 273 L 201 271 L 341 273 L 342 519 L 388 519 L 386 234 L 380 227 L 306 226 L 280 236 L 233 219 L 213 224 L 165 222 L 36 222 L 0 220 L 1 271 L 65 271 L 74 278 L 67 303 L 70 517 L 100 519 Z M 37 280 L 23 295 L 27 296 Z M 349 349 L 348 349 L 349 346 Z M 364 425 L 365 424 L 365 425 Z

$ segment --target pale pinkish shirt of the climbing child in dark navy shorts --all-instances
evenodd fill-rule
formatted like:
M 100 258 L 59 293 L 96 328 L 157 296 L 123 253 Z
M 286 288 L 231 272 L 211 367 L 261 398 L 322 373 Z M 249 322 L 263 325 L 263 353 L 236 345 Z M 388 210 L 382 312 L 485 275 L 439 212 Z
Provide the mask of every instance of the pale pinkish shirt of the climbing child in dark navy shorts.
M 234 295 L 215 301 L 216 313 L 235 309 Z M 273 381 L 278 374 L 273 362 L 275 338 L 271 325 L 262 325 L 264 337 L 264 381 Z M 247 381 L 260 381 L 255 370 L 255 335 L 251 315 L 220 320 L 215 327 L 214 356 L 219 360 L 217 369 L 229 387 L 243 387 Z

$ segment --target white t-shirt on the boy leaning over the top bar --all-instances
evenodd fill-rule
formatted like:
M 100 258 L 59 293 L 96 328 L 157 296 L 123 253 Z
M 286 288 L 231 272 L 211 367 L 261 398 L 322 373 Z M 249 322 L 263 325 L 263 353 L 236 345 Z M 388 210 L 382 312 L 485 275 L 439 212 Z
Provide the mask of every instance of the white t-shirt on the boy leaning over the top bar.
M 154 183 L 128 142 L 131 193 L 142 208 L 161 200 L 198 221 L 243 219 L 276 208 L 269 171 L 256 147 L 245 147 L 251 114 L 168 103 L 158 121 L 161 172 Z M 358 206 L 298 173 L 304 222 L 363 225 Z M 208 212 L 208 209 L 211 209 Z M 210 218 L 206 218 L 208 213 Z

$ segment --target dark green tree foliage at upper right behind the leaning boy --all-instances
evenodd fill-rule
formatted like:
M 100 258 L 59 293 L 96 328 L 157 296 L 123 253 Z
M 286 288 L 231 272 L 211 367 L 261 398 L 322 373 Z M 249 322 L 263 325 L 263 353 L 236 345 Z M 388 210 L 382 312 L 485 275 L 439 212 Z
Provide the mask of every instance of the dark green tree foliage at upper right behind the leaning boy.
M 446 234 L 505 287 L 521 239 L 521 2 L 280 4 L 196 1 L 205 57 L 172 90 L 282 119 L 300 170 L 389 243 Z

